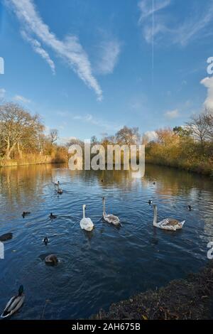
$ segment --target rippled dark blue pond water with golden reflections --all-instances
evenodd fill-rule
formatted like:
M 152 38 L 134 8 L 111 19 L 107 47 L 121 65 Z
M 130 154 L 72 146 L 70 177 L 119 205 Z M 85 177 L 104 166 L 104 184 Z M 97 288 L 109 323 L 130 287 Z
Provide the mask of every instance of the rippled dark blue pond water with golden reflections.
M 120 228 L 102 220 L 103 195 Z M 155 229 L 149 199 L 158 205 L 159 220 L 186 220 L 184 228 Z M 95 225 L 90 233 L 80 229 L 83 204 Z M 23 218 L 23 211 L 31 215 Z M 0 235 L 13 232 L 0 259 L 0 311 L 23 284 L 26 300 L 13 319 L 88 318 L 204 266 L 213 241 L 213 182 L 158 166 L 146 166 L 136 179 L 128 171 L 73 172 L 57 165 L 1 168 L 0 212 Z M 50 212 L 57 219 L 50 220 Z M 58 266 L 42 261 L 51 253 Z

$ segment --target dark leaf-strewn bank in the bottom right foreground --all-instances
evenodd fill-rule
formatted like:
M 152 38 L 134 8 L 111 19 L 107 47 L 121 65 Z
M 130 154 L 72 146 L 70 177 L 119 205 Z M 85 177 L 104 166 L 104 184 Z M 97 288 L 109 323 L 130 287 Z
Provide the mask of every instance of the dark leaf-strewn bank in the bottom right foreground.
M 157 291 L 139 293 L 126 301 L 114 303 L 93 319 L 104 320 L 202 320 L 212 318 L 213 262 L 198 274 L 171 281 Z

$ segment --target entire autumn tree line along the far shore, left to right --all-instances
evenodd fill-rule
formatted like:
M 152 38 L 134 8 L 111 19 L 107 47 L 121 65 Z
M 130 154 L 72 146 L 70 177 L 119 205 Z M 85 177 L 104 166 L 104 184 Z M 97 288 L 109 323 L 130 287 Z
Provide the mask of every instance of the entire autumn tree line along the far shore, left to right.
M 72 139 L 64 146 L 58 145 L 58 130 L 48 134 L 38 114 L 32 115 L 18 104 L 0 106 L 0 158 L 22 159 L 32 153 L 51 156 L 53 162 L 67 161 L 67 148 L 84 142 Z M 145 144 L 146 161 L 175 166 L 200 173 L 212 173 L 213 166 L 213 112 L 205 109 L 193 115 L 184 126 L 155 130 L 155 140 L 140 134 L 138 127 L 124 126 L 112 136 L 101 140 L 92 136 L 91 144 L 132 145 Z

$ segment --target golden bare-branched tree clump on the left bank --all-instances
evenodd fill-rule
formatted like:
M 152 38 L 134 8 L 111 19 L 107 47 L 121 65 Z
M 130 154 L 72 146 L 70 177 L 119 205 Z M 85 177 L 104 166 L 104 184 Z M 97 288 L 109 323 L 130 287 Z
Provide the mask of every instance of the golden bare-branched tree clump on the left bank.
M 23 158 L 23 154 L 54 155 L 60 146 L 55 142 L 58 130 L 45 126 L 38 114 L 32 115 L 14 103 L 0 106 L 0 158 Z

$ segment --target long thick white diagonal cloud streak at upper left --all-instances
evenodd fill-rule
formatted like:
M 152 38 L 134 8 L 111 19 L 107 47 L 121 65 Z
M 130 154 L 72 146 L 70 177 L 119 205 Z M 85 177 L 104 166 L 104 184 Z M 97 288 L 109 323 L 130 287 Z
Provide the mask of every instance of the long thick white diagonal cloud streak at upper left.
M 65 62 L 74 70 L 80 79 L 94 90 L 98 100 L 102 100 L 102 90 L 95 77 L 92 75 L 92 68 L 87 53 L 82 48 L 77 36 L 67 36 L 60 41 L 54 33 L 50 31 L 40 14 L 35 9 L 33 0 L 7 0 L 13 6 L 13 10 L 21 21 L 23 30 L 37 38 L 53 51 L 56 55 L 65 60 Z M 36 40 L 37 41 L 37 40 Z M 40 52 L 40 49 L 37 52 Z M 47 56 L 47 54 L 45 54 Z

